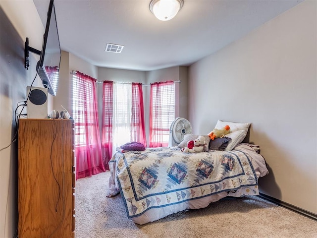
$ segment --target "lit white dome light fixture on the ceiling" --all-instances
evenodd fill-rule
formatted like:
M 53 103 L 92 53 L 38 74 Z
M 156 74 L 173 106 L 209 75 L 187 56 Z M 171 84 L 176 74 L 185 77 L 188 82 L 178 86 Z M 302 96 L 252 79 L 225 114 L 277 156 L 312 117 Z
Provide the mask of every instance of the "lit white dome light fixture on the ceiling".
M 161 21 L 168 21 L 182 8 L 183 0 L 151 0 L 150 10 Z

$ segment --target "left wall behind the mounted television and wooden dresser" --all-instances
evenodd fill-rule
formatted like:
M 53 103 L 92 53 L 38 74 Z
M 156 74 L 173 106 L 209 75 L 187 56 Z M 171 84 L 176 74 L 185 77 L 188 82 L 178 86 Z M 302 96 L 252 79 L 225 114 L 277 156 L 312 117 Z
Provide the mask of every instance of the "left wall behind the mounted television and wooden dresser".
M 11 143 L 16 131 L 14 111 L 18 102 L 26 100 L 26 86 L 31 85 L 39 60 L 30 53 L 30 67 L 24 68 L 24 42 L 28 37 L 31 47 L 41 49 L 44 26 L 32 0 L 0 0 L 0 8 L 0 149 L 5 147 L 0 151 L 0 237 L 12 238 L 17 229 L 17 143 Z M 33 86 L 42 86 L 39 77 Z

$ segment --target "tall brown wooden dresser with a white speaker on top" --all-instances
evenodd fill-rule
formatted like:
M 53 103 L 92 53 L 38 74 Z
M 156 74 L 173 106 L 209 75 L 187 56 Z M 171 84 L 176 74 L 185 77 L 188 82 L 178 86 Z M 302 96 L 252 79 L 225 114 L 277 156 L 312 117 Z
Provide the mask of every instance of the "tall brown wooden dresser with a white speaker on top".
M 20 119 L 19 238 L 74 238 L 72 119 Z

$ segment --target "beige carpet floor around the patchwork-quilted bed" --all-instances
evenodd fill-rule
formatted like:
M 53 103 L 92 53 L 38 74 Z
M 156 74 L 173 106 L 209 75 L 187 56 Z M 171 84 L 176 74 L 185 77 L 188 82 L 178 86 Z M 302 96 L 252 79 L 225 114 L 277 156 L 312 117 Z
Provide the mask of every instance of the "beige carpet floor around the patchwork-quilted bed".
M 117 195 L 106 197 L 109 172 L 76 181 L 75 238 L 317 238 L 317 222 L 259 197 L 234 198 L 137 225 Z

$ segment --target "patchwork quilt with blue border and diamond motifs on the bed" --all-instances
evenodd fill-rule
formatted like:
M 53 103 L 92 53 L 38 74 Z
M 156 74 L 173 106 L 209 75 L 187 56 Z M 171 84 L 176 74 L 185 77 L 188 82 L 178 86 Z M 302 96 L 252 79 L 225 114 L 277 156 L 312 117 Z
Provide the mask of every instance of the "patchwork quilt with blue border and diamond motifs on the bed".
M 184 153 L 177 147 L 116 153 L 116 179 L 129 218 L 222 191 L 258 185 L 243 151 Z M 249 194 L 246 194 L 249 195 Z

